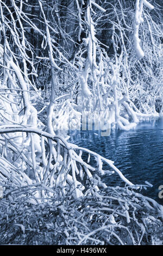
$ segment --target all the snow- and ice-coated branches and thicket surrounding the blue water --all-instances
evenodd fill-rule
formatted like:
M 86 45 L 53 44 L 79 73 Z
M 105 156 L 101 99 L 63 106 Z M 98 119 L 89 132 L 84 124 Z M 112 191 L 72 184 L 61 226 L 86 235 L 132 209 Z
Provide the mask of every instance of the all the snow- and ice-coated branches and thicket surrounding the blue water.
M 103 131 L 162 115 L 161 5 L 0 0 L 1 244 L 162 243 L 151 184 L 60 132 L 84 115 Z M 124 187 L 104 184 L 115 173 Z

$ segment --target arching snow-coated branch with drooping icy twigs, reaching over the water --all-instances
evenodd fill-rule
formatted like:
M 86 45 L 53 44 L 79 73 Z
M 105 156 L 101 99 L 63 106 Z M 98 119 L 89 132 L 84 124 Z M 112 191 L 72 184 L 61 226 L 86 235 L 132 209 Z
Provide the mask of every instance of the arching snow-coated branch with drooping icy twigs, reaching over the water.
M 13 133 L 17 132 L 29 133 L 30 135 L 30 142 L 27 143 L 26 141 L 23 144 L 23 154 L 21 154 L 21 148 L 18 149 L 12 137 L 8 137 L 8 134 L 14 135 Z M 30 183 L 46 184 L 49 188 L 61 187 L 62 193 L 65 195 L 67 193 L 67 188 L 70 187 L 73 192 L 73 197 L 79 198 L 80 196 L 83 196 L 83 190 L 87 187 L 83 180 L 84 175 L 86 176 L 86 180 L 90 182 L 92 189 L 98 192 L 100 187 L 106 188 L 107 186 L 101 182 L 101 179 L 97 174 L 111 175 L 113 173 L 117 173 L 120 176 L 120 179 L 127 185 L 137 188 L 137 186 L 126 179 L 121 171 L 114 166 L 114 162 L 105 159 L 105 157 L 102 157 L 91 150 L 68 143 L 60 136 L 53 136 L 45 131 L 35 129 L 34 127 L 21 127 L 21 125 L 12 125 L 12 127 L 1 125 L 0 134 L 2 135 L 2 142 L 0 144 L 2 144 L 7 151 L 7 155 L 3 156 L 4 161 L 10 162 L 10 157 L 12 157 L 11 151 L 14 151 L 14 154 L 21 157 L 23 161 L 23 171 L 26 173 L 30 168 L 30 172 L 33 173 L 34 181 L 32 181 L 27 175 L 23 176 L 22 170 L 17 170 L 20 175 L 17 186 L 20 186 L 21 184 L 25 186 Z M 40 137 L 41 141 L 41 153 L 39 155 L 34 141 L 35 134 Z M 5 139 L 8 140 L 7 145 L 5 145 Z M 39 143 L 39 140 L 37 143 Z M 45 147 L 45 143 L 48 147 Z M 49 151 L 47 151 L 46 148 L 49 149 Z M 89 155 L 89 158 L 91 157 L 91 162 L 90 160 L 85 160 L 85 154 Z M 0 164 L 1 162 L 2 161 L 0 159 Z M 41 166 L 40 163 L 42 163 Z M 103 169 L 103 164 L 108 166 L 108 170 Z M 12 169 L 12 172 L 14 172 L 14 174 L 12 174 L 14 177 L 16 177 L 16 168 L 17 166 L 14 164 L 12 164 L 10 168 Z M 3 170 L 0 170 L 0 181 L 3 183 L 5 183 L 6 173 L 8 177 L 10 177 L 11 172 L 10 170 L 8 171 L 8 164 L 3 168 Z M 78 180 L 79 174 L 81 181 Z M 40 193 L 37 196 L 42 198 Z M 46 196 L 48 196 L 48 194 L 46 194 Z M 49 196 L 53 195 L 50 194 Z M 45 196 L 43 196 L 43 198 L 45 198 Z

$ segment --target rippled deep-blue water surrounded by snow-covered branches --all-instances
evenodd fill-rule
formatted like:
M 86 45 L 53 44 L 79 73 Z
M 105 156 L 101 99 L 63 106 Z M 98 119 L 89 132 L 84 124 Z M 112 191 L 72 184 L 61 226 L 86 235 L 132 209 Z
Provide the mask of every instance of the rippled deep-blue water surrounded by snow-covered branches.
M 163 185 L 163 118 L 142 121 L 131 131 L 114 130 L 107 137 L 101 136 L 101 131 L 70 131 L 69 142 L 114 161 L 134 184 L 148 181 L 153 187 L 141 193 L 163 204 L 159 198 L 159 186 Z M 103 181 L 109 186 L 125 185 L 117 174 L 104 175 Z

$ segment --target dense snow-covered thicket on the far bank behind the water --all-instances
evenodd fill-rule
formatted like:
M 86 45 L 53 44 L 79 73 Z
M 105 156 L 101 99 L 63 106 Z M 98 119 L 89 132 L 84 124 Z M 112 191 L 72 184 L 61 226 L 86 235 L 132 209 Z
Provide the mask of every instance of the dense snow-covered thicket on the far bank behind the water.
M 137 33 L 138 2 L 141 19 Z M 125 130 L 140 118 L 162 113 L 162 6 L 160 1 L 152 1 L 154 9 L 144 3 L 141 10 L 142 3 L 1 2 L 1 45 L 6 52 L 1 61 L 5 66 L 5 59 L 8 62 L 12 56 L 27 89 L 43 90 L 42 94 L 28 94 L 38 98 L 37 111 L 44 107 L 39 95 L 48 99 L 47 104 L 51 97 L 51 111 L 46 111 L 48 130 L 53 130 L 51 122 L 58 129 L 61 116 L 66 119 L 64 111 L 60 118 L 52 117 L 52 108 L 58 111 L 61 105 L 64 110 L 77 110 L 79 115 L 88 109 L 91 113 L 109 112 L 109 123 Z M 139 43 L 135 35 L 139 36 L 143 58 L 136 52 Z M 17 75 L 15 79 L 22 87 Z M 2 80 L 10 87 L 5 72 Z M 63 97 L 53 104 L 57 96 Z M 72 115 L 76 119 L 76 113 Z

